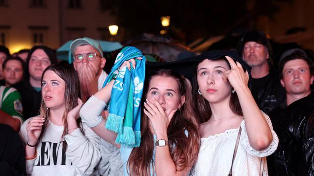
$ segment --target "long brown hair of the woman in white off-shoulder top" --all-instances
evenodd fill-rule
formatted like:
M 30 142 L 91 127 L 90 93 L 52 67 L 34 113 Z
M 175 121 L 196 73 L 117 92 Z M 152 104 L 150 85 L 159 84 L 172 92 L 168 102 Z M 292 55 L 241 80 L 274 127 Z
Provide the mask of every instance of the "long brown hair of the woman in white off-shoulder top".
M 230 64 L 226 58 L 219 58 L 217 60 L 220 60 L 220 59 L 226 61 L 229 68 L 231 69 L 231 66 L 230 66 Z M 195 67 L 194 74 L 193 74 L 193 85 L 198 85 L 198 83 L 197 83 L 197 66 Z M 197 120 L 201 124 L 201 123 L 207 122 L 209 120 L 209 118 L 211 116 L 211 110 L 210 110 L 209 102 L 203 97 L 203 95 L 200 95 L 198 93 L 198 89 L 199 89 L 198 86 L 193 87 L 193 95 L 194 95 L 193 101 L 194 101 L 194 110 L 195 110 L 195 112 L 198 113 L 198 119 Z M 241 116 L 243 115 L 242 109 L 240 106 L 240 102 L 239 102 L 239 99 L 237 97 L 236 92 L 231 94 L 229 106 L 230 106 L 230 109 L 235 114 L 241 115 Z

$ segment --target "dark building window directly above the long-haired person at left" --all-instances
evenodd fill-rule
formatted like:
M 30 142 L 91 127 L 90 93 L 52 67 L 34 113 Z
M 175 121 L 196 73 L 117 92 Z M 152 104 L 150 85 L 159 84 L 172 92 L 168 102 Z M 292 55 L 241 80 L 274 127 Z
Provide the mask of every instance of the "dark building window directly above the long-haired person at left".
M 31 40 L 34 45 L 47 44 L 48 26 L 28 26 L 30 29 Z

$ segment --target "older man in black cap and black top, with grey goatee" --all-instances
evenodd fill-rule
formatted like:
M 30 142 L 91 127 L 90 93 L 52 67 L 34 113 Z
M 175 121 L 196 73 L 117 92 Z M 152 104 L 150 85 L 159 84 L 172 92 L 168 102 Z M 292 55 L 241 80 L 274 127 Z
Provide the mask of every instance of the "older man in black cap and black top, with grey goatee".
M 264 33 L 251 31 L 239 41 L 238 52 L 252 67 L 251 91 L 257 104 L 268 113 L 284 102 L 284 88 L 278 73 L 270 68 L 271 46 Z

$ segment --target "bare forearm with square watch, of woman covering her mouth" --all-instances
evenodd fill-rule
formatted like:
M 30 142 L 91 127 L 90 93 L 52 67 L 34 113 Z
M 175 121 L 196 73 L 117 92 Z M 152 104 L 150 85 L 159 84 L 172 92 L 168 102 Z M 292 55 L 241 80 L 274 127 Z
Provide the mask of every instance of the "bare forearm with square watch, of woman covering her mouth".
M 159 134 L 157 135 L 157 140 L 159 139 L 165 139 L 168 141 L 168 136 L 167 134 Z M 171 157 L 168 144 L 166 146 L 156 146 L 155 170 L 156 176 L 185 176 L 190 170 L 190 167 L 177 171 L 176 164 Z

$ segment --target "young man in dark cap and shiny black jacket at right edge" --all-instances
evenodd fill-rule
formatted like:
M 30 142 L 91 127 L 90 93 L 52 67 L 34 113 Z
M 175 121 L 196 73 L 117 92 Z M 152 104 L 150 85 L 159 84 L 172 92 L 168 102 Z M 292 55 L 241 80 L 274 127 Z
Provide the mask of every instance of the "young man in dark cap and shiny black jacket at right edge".
M 314 64 L 301 49 L 290 49 L 280 60 L 287 108 L 270 112 L 279 145 L 267 157 L 269 176 L 314 175 Z

